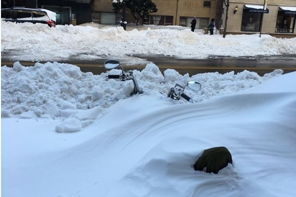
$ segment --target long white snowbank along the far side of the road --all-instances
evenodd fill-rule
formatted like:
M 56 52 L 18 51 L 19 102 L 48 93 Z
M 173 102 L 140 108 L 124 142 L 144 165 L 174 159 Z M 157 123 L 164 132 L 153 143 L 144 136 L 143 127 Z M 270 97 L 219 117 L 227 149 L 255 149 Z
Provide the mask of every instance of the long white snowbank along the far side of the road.
M 13 33 L 11 33 L 13 32 Z M 200 35 L 190 30 L 124 31 L 79 26 L 1 22 L 1 52 L 28 61 L 99 58 L 132 59 L 133 55 L 182 58 L 296 54 L 296 38 L 269 35 Z M 13 44 L 12 44 L 13 43 Z M 242 50 L 243 49 L 243 50 Z M 129 60 L 130 64 L 135 59 Z

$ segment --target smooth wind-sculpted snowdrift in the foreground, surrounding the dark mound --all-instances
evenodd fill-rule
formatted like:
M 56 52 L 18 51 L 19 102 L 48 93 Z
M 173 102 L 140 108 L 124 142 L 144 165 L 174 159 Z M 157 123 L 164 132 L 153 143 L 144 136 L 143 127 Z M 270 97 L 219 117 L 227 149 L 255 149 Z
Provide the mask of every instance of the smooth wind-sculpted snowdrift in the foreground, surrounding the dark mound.
M 259 80 L 243 75 L 253 80 L 245 84 Z M 71 134 L 53 132 L 58 120 L 2 119 L 2 196 L 295 197 L 291 84 L 296 72 L 199 103 L 135 95 Z M 215 146 L 230 150 L 233 166 L 195 171 L 198 155 Z

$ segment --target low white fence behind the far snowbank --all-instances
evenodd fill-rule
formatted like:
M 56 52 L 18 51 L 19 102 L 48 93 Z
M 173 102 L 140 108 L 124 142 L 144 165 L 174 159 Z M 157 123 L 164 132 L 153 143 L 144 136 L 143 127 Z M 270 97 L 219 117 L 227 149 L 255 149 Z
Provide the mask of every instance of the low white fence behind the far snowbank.
M 105 29 L 110 27 L 120 27 L 120 24 L 98 24 L 98 23 L 84 23 L 80 24 L 79 26 L 91 26 L 99 29 Z M 135 24 L 127 24 L 127 31 L 132 30 L 191 30 L 191 28 L 188 27 L 182 27 L 182 26 L 156 26 L 156 25 L 135 25 Z M 210 31 L 205 31 L 204 29 L 195 29 L 195 33 L 207 33 L 209 34 Z M 214 29 L 214 34 L 220 34 L 220 31 L 217 29 Z

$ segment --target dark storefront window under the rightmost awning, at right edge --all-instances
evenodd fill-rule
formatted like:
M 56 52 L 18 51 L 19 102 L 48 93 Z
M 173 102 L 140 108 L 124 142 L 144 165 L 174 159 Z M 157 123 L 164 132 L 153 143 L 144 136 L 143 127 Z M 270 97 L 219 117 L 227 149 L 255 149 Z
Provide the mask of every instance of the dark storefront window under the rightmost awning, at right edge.
M 275 32 L 277 33 L 294 33 L 295 14 L 285 14 L 279 11 L 276 19 Z

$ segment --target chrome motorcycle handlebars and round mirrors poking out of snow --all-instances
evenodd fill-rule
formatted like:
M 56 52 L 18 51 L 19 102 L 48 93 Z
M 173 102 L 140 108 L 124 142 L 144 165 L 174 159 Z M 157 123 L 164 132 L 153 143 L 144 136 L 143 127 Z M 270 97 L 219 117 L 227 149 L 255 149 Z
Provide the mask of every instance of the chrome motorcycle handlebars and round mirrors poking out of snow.
M 139 88 L 138 83 L 136 78 L 133 76 L 132 70 L 125 72 L 123 66 L 120 65 L 119 61 L 117 60 L 106 60 L 104 63 L 104 66 L 106 69 L 113 69 L 120 67 L 121 68 L 121 74 L 108 74 L 106 77 L 108 79 L 119 79 L 121 81 L 127 81 L 127 80 L 132 80 L 133 82 L 133 91 L 131 95 L 135 95 L 137 93 L 142 94 L 143 91 Z M 186 99 L 187 101 L 193 103 L 193 99 L 188 97 L 186 94 L 184 94 L 185 88 L 188 87 L 191 90 L 197 92 L 200 90 L 201 85 L 200 83 L 196 81 L 189 81 L 185 87 L 182 87 L 179 84 L 176 84 L 174 88 L 171 88 L 167 97 L 174 99 L 174 100 L 179 100 L 181 97 Z

